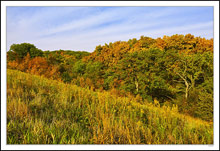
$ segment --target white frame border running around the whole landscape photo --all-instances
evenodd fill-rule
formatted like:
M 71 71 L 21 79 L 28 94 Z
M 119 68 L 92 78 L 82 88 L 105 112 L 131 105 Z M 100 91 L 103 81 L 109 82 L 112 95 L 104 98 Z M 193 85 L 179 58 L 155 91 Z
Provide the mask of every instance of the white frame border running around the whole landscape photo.
M 214 145 L 6 145 L 6 6 L 214 6 Z M 1 147 L 4 150 L 219 150 L 219 2 L 1 1 Z

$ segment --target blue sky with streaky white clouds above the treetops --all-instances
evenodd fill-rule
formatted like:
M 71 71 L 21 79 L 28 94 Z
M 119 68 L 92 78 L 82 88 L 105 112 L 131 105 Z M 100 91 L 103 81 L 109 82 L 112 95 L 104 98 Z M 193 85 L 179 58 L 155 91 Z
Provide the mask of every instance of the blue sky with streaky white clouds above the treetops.
M 31 43 L 45 50 L 93 52 L 140 36 L 213 38 L 213 7 L 7 7 L 7 50 Z

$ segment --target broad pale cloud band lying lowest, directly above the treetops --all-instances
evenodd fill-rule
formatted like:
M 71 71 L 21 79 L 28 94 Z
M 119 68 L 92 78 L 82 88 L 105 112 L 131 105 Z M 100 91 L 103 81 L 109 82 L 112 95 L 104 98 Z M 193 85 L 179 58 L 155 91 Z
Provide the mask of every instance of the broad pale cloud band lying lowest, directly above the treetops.
M 109 32 L 108 34 L 102 35 L 102 32 L 95 33 L 89 32 L 88 34 L 79 35 L 79 36 L 63 36 L 63 37 L 54 37 L 54 38 L 43 38 L 40 41 L 31 41 L 32 43 L 41 46 L 43 50 L 57 50 L 57 49 L 71 49 L 71 50 L 84 50 L 92 52 L 95 47 L 99 44 L 103 45 L 104 43 L 115 42 L 115 41 L 127 41 L 131 38 L 140 38 L 141 35 L 149 37 L 161 37 L 163 35 L 173 35 L 173 34 L 194 34 L 195 36 L 202 36 L 211 38 L 213 31 L 210 30 L 212 22 L 204 24 L 194 24 L 189 26 L 181 26 L 175 28 L 164 28 L 164 29 L 154 29 L 150 31 L 142 32 L 128 32 L 123 34 L 117 34 L 117 32 Z M 201 28 L 202 27 L 202 28 Z M 195 30 L 197 29 L 197 30 Z M 118 29 L 120 30 L 120 29 Z M 162 34 L 161 34 L 162 33 Z M 202 33 L 202 35 L 201 35 Z M 82 47 L 83 46 L 83 47 Z M 83 49 L 82 49 L 83 48 Z

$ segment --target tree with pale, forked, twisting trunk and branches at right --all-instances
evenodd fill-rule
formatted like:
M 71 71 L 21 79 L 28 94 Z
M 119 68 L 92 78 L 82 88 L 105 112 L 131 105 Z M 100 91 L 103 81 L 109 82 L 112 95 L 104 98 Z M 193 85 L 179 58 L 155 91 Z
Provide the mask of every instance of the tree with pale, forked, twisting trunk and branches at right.
M 203 76 L 206 74 L 202 68 L 208 62 L 202 61 L 204 58 L 203 54 L 179 54 L 179 53 L 168 53 L 167 56 L 167 69 L 172 74 L 175 74 L 175 81 L 182 83 L 185 87 L 185 98 L 189 97 L 190 90 L 195 88 L 195 82 L 201 81 Z

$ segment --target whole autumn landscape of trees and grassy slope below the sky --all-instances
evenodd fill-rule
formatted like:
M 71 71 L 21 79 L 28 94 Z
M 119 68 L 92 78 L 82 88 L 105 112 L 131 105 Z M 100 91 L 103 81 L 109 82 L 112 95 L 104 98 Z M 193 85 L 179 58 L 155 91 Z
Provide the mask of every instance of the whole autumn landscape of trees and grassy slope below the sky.
M 141 36 L 92 53 L 13 44 L 7 68 L 10 143 L 213 142 L 213 39 Z

